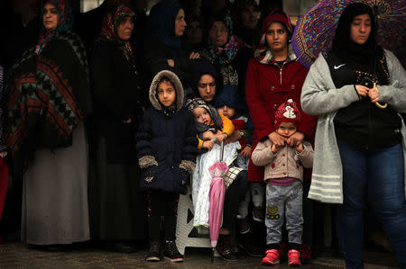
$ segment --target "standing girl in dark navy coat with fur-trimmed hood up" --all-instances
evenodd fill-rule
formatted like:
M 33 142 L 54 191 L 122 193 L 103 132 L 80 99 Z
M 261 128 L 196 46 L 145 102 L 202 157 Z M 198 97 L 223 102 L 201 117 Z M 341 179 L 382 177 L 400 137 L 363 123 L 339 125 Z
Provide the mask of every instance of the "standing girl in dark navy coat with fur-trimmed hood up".
M 168 70 L 159 72 L 150 87 L 152 107 L 143 115 L 137 134 L 141 187 L 147 190 L 150 249 L 147 261 L 161 260 L 160 222 L 164 217 L 164 256 L 183 261 L 175 245 L 179 194 L 188 191 L 189 175 L 196 166 L 196 128 L 193 115 L 183 106 L 180 79 Z

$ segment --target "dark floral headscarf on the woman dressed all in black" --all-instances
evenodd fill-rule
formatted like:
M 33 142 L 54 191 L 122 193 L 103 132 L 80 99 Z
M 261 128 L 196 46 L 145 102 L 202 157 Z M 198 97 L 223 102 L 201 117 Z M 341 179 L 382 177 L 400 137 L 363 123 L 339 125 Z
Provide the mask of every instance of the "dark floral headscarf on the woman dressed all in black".
M 124 4 L 120 4 L 115 11 L 106 13 L 103 19 L 101 38 L 110 42 L 115 42 L 124 45 L 124 54 L 127 60 L 134 60 L 134 52 L 131 48 L 129 40 L 123 41 L 117 35 L 117 28 L 125 17 L 134 17 L 135 13 Z

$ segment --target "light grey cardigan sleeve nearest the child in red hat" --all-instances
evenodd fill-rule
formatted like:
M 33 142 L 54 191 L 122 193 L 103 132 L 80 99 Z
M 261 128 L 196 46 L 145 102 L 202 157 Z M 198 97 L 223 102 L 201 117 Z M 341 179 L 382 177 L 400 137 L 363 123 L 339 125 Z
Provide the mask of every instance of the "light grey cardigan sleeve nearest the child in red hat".
M 322 115 L 359 100 L 354 85 L 345 85 L 339 89 L 333 88 L 333 85 L 328 64 L 320 54 L 310 67 L 301 89 L 302 110 L 310 115 Z

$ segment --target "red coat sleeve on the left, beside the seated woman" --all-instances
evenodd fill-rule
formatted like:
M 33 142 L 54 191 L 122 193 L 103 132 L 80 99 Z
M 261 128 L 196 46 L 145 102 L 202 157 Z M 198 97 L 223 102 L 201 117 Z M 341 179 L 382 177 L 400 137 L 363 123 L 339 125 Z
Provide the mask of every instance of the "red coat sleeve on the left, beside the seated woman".
M 248 104 L 251 119 L 254 122 L 254 127 L 258 134 L 258 138 L 263 139 L 275 129 L 272 125 L 270 117 L 268 116 L 268 112 L 266 111 L 263 98 L 259 92 L 259 85 L 257 85 L 259 79 L 257 75 L 258 70 L 255 67 L 254 59 L 251 59 L 248 63 L 248 69 L 246 71 L 246 103 Z

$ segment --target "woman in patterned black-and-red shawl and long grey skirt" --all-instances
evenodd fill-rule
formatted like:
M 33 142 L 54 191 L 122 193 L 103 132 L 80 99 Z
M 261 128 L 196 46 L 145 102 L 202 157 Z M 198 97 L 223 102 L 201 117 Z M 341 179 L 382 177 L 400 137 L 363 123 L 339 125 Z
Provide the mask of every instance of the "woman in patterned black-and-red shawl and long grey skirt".
M 37 46 L 11 70 L 6 134 L 24 181 L 22 239 L 36 246 L 89 239 L 86 51 L 65 1 L 44 1 L 42 22 Z

